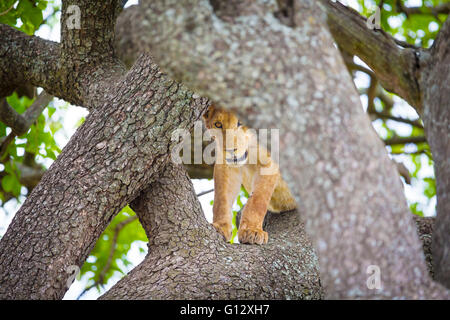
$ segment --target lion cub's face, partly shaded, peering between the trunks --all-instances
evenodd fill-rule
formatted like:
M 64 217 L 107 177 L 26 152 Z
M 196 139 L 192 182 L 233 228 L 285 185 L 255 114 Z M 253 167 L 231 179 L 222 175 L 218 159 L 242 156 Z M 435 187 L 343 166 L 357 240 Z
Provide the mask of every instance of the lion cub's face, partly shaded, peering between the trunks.
M 213 106 L 208 108 L 203 118 L 206 128 L 217 143 L 217 156 L 223 157 L 226 164 L 231 166 L 245 164 L 251 138 L 248 128 L 233 113 Z

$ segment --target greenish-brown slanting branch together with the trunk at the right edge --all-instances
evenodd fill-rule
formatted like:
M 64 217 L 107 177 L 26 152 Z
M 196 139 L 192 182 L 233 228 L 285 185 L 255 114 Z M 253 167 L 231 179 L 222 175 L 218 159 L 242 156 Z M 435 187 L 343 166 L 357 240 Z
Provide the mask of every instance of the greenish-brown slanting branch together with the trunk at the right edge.
M 433 236 L 436 280 L 450 288 L 450 19 L 430 49 L 407 48 L 336 2 L 323 0 L 328 24 L 341 48 L 367 63 L 385 89 L 408 101 L 425 124 L 436 177 L 437 219 Z

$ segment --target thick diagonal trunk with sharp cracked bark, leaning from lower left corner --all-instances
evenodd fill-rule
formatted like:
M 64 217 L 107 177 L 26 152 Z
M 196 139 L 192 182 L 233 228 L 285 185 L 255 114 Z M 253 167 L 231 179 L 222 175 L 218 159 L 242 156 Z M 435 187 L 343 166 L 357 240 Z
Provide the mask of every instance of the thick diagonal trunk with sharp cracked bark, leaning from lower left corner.
M 87 117 L 15 215 L 0 242 L 0 297 L 56 299 L 111 218 L 170 159 L 177 129 L 207 100 L 163 75 L 148 56 Z

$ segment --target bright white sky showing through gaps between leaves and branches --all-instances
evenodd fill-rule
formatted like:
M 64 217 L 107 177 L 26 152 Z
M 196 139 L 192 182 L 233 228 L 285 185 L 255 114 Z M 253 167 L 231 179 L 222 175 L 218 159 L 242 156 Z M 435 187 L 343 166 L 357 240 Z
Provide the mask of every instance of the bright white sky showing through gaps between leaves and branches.
M 355 0 L 343 0 L 341 1 L 344 4 L 348 4 L 354 8 L 357 8 L 357 2 Z M 127 6 L 130 6 L 132 4 L 137 3 L 137 0 L 129 1 L 127 3 Z M 369 2 L 370 3 L 370 2 Z M 420 6 L 422 4 L 422 1 L 420 0 L 410 0 L 408 1 L 408 5 L 414 5 L 414 6 Z M 48 16 L 51 13 L 51 9 L 47 9 L 46 12 L 44 12 L 44 17 Z M 59 14 L 57 16 L 59 19 Z M 392 23 L 396 23 L 395 21 L 392 21 Z M 38 36 L 53 40 L 56 42 L 59 42 L 60 39 L 60 26 L 59 24 L 55 24 L 53 28 L 48 27 L 47 25 L 43 25 L 36 33 Z M 355 62 L 365 65 L 361 60 L 357 59 Z M 355 78 L 355 84 L 357 87 L 367 87 L 369 83 L 369 78 L 366 74 L 362 72 L 358 72 L 356 74 Z M 393 109 L 393 113 L 415 118 L 417 117 L 417 113 L 414 111 L 413 108 L 411 108 L 405 101 L 398 97 L 394 97 L 395 106 Z M 362 96 L 361 102 L 363 105 L 363 108 L 367 108 L 367 98 Z M 56 107 L 55 117 L 59 117 L 62 121 L 64 130 L 60 130 L 55 134 L 55 139 L 60 148 L 62 149 L 72 134 L 75 132 L 77 128 L 77 124 L 79 123 L 80 119 L 82 117 L 86 117 L 88 115 L 88 112 L 81 107 L 68 105 L 66 102 L 60 99 L 56 99 L 53 101 L 54 106 Z M 411 130 L 409 126 L 402 126 L 398 123 L 393 123 L 392 125 L 395 125 L 396 129 L 401 134 L 402 132 L 404 134 L 408 134 Z M 385 130 L 380 123 L 374 122 L 373 126 L 375 130 L 383 135 L 383 131 Z M 400 160 L 403 162 L 408 169 L 413 168 L 413 164 L 411 161 L 404 156 L 396 156 L 397 160 Z M 49 166 L 51 162 L 47 162 L 46 165 Z M 433 175 L 433 168 L 428 165 L 426 161 L 422 161 L 422 170 L 419 172 L 419 175 L 426 177 Z M 213 189 L 213 181 L 212 180 L 193 180 L 193 185 L 195 188 L 196 193 L 200 193 L 202 191 Z M 415 185 L 411 186 L 408 184 L 404 184 L 405 187 L 405 196 L 408 199 L 408 201 L 419 201 L 422 203 L 424 213 L 425 215 L 434 215 L 435 213 L 435 205 L 436 201 L 435 198 L 432 201 L 428 201 L 428 199 L 423 195 L 422 190 L 424 186 L 421 182 L 417 182 Z M 203 211 L 205 212 L 205 216 L 208 221 L 212 221 L 212 206 L 211 201 L 214 198 L 214 192 L 208 193 L 206 195 L 203 195 L 199 198 L 200 203 L 202 205 Z M 22 202 L 25 200 L 24 198 L 21 199 Z M 4 208 L 0 208 L 0 235 L 3 235 L 6 232 L 7 226 L 11 222 L 15 212 L 20 208 L 20 203 L 17 203 L 15 201 L 9 201 Z M 235 209 L 238 209 L 238 207 L 235 205 Z M 144 256 L 145 253 L 141 253 L 139 248 L 145 248 L 146 244 L 141 242 L 135 242 L 133 243 L 129 253 L 128 253 L 128 260 L 132 262 L 132 265 L 129 267 L 123 266 L 124 270 L 131 270 L 134 266 L 139 264 Z M 120 276 L 117 275 L 114 277 L 111 281 L 108 282 L 108 284 L 105 286 L 104 290 L 109 289 L 114 283 L 116 283 L 118 280 L 120 280 Z M 73 285 L 71 286 L 70 290 L 66 293 L 64 299 L 76 299 L 78 295 L 83 291 L 84 287 L 86 286 L 87 277 L 84 277 L 80 280 L 76 280 Z M 102 290 L 102 292 L 104 292 Z M 99 293 L 93 289 L 90 290 L 87 294 L 85 294 L 82 299 L 96 299 L 99 296 Z

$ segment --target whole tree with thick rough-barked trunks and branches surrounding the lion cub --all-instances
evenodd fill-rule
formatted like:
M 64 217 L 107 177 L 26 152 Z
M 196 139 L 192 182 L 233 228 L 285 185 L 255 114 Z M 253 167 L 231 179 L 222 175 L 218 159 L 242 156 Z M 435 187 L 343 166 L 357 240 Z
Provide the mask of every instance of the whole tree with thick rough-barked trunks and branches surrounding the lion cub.
M 61 298 L 68 269 L 84 263 L 127 204 L 149 253 L 103 298 L 449 297 L 441 285 L 450 245 L 449 20 L 419 49 L 325 0 L 142 1 L 121 10 L 114 0 L 63 1 L 61 43 L 0 26 L 2 97 L 31 85 L 90 112 L 1 239 L 0 297 Z M 334 41 L 423 119 L 441 284 Z M 171 162 L 172 133 L 191 129 L 211 101 L 254 128 L 280 129 L 282 174 L 300 208 L 268 216 L 265 246 L 224 243 L 185 169 Z M 370 270 L 379 270 L 381 289 L 368 284 Z

